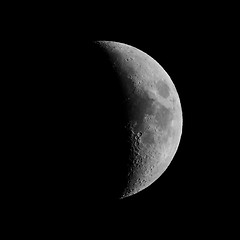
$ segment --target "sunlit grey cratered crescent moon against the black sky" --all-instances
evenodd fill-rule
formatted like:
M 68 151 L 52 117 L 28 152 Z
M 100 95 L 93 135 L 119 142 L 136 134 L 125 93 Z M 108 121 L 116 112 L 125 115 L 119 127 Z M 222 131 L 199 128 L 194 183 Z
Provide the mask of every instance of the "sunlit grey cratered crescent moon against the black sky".
M 118 155 L 113 169 L 107 167 L 112 175 L 117 172 L 108 181 L 118 182 L 118 197 L 125 198 L 155 182 L 175 156 L 182 133 L 181 103 L 170 76 L 147 53 L 112 41 L 94 42 L 94 52 L 99 78 L 111 86 L 111 111 L 118 120 L 108 126 L 114 132 L 108 139 L 117 139 L 112 158 Z

